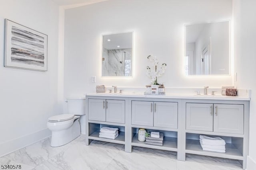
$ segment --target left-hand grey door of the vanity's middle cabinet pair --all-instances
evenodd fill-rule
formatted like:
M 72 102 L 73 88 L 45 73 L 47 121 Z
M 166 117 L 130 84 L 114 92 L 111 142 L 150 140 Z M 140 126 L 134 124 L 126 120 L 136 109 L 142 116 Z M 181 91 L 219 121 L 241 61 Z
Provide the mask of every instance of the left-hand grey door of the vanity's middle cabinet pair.
M 153 102 L 132 101 L 132 125 L 153 126 Z

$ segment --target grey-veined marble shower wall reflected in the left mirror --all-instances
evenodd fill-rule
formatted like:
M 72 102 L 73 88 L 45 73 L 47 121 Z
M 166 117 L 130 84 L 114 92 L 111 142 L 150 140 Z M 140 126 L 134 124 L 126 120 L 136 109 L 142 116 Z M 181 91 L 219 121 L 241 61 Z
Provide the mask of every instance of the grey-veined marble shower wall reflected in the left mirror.
M 124 55 L 125 54 L 125 55 Z M 132 76 L 132 49 L 103 49 L 102 76 Z M 126 61 L 125 61 L 126 60 Z

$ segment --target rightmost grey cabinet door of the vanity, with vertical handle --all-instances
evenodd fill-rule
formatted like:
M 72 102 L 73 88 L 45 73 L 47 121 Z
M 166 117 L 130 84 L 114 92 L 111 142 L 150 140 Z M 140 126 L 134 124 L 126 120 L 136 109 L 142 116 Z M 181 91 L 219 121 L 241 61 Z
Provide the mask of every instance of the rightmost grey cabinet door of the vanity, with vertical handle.
M 244 105 L 214 104 L 214 132 L 244 134 Z

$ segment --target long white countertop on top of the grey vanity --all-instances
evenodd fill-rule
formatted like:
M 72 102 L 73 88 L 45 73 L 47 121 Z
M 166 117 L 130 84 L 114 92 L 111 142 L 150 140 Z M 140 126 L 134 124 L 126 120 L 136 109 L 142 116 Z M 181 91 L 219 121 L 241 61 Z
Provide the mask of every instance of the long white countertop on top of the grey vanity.
M 144 95 L 143 93 L 88 93 L 86 96 L 128 97 L 128 98 L 168 98 L 168 99 L 198 99 L 198 100 L 250 100 L 248 96 L 166 94 Z

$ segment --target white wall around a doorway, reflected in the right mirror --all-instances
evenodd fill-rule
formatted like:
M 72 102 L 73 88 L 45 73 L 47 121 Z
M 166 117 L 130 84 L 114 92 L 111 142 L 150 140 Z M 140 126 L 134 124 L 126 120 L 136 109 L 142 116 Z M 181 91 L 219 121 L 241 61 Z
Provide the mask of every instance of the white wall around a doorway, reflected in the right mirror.
M 202 74 L 202 49 L 210 44 L 211 74 L 227 75 L 230 72 L 229 22 L 205 24 L 196 39 L 196 74 Z

